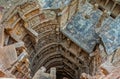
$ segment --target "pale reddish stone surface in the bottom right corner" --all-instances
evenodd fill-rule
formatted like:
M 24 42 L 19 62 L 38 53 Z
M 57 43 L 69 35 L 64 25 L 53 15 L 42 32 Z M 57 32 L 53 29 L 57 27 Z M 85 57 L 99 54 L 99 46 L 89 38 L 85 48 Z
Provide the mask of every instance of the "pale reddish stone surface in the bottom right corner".
M 120 79 L 120 67 L 115 67 L 111 63 L 103 63 L 100 69 L 99 75 L 90 76 L 83 73 L 80 79 Z

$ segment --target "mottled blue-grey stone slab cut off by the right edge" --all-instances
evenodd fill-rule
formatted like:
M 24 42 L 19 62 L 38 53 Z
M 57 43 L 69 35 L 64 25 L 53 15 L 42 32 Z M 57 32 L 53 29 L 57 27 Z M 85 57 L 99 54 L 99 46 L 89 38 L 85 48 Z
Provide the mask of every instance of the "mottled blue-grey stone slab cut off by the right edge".
M 107 54 L 112 54 L 120 47 L 120 16 L 116 19 L 109 18 L 102 26 L 100 37 Z

